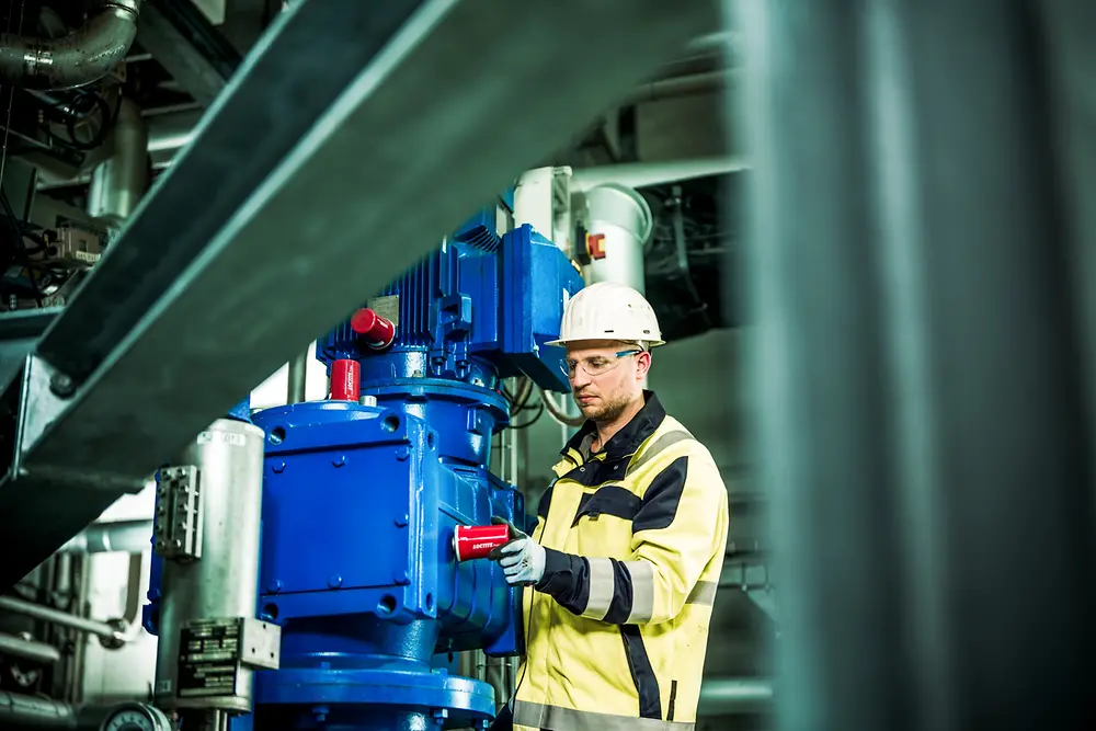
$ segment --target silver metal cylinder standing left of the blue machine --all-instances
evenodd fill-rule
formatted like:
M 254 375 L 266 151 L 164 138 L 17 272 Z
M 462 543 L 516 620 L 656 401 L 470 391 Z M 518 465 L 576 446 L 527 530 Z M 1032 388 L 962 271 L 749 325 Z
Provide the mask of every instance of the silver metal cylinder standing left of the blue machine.
M 197 468 L 201 556 L 163 561 L 156 658 L 156 703 L 161 708 L 251 710 L 250 670 L 242 672 L 235 693 L 187 697 L 180 693 L 186 678 L 179 675 L 179 655 L 185 649 L 180 635 L 186 623 L 255 616 L 263 443 L 263 431 L 254 424 L 219 419 L 183 455 L 182 465 Z M 161 494 L 158 500 L 158 518 L 164 499 Z M 159 534 L 157 538 L 157 550 L 162 551 Z

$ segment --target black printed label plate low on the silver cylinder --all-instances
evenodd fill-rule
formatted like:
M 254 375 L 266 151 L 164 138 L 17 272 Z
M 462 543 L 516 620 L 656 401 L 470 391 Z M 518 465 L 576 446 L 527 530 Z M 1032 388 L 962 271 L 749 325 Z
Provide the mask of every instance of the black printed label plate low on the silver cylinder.
M 236 695 L 240 635 L 238 618 L 191 623 L 183 627 L 175 695 L 180 698 Z

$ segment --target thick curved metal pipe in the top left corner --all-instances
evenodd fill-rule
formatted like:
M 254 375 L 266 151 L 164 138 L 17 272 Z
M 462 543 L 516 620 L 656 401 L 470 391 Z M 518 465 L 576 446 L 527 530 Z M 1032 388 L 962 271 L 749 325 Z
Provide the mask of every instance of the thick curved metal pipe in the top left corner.
M 139 13 L 140 0 L 104 0 L 83 27 L 61 38 L 0 34 L 0 82 L 73 89 L 98 81 L 125 59 Z

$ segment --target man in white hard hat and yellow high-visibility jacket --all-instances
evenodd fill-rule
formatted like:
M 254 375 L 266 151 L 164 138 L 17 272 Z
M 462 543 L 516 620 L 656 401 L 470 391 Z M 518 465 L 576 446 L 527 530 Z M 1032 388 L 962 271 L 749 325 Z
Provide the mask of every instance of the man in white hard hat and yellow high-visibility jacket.
M 585 424 L 532 536 L 492 558 L 526 585 L 526 656 L 495 729 L 692 729 L 727 544 L 708 450 L 643 390 L 654 311 L 618 284 L 567 305 L 560 338 Z M 496 522 L 502 522 L 496 519 Z

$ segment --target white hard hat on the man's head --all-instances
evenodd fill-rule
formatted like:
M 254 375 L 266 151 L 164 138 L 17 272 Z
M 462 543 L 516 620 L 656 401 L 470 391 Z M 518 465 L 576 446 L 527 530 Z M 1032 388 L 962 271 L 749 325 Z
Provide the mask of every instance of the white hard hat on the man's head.
M 563 308 L 559 340 L 548 345 L 567 345 L 578 340 L 620 340 L 644 347 L 662 345 L 662 331 L 654 309 L 631 287 L 598 282 L 579 290 Z

